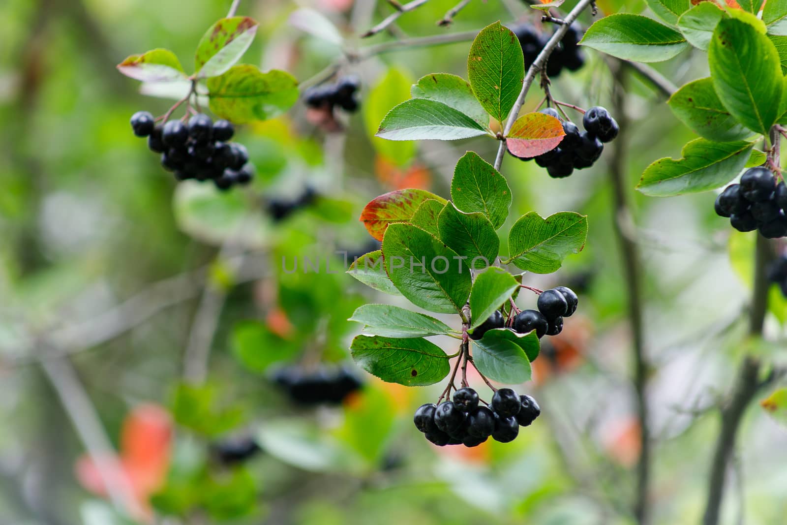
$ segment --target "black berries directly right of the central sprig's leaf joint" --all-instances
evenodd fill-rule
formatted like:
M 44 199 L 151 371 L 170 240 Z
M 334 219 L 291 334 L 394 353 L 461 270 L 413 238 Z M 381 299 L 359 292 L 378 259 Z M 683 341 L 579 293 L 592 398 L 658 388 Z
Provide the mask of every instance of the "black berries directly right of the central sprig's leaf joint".
M 536 331 L 538 338 L 545 335 L 558 335 L 563 331 L 563 317 L 570 317 L 577 311 L 579 299 L 571 288 L 556 287 L 544 290 L 538 296 L 538 310 L 523 310 L 514 316 L 512 326 L 509 327 L 519 334 Z M 500 310 L 494 312 L 489 319 L 475 327 L 470 335 L 471 339 L 478 340 L 493 328 L 505 327 L 505 320 Z

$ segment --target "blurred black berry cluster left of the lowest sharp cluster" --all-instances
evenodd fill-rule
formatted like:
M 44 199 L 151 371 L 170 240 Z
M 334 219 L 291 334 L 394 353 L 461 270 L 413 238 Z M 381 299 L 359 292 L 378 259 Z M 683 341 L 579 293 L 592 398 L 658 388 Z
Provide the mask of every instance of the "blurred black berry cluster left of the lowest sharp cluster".
M 317 368 L 309 372 L 299 366 L 279 368 L 273 381 L 290 399 L 301 405 L 338 404 L 363 386 L 348 368 Z

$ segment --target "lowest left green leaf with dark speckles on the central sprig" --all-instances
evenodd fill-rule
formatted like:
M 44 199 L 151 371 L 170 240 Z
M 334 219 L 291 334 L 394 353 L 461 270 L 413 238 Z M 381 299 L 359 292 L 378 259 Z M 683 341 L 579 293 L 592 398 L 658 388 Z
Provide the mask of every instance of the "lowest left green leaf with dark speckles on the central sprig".
M 423 338 L 385 338 L 358 335 L 350 345 L 355 362 L 387 383 L 426 386 L 449 372 L 449 357 Z

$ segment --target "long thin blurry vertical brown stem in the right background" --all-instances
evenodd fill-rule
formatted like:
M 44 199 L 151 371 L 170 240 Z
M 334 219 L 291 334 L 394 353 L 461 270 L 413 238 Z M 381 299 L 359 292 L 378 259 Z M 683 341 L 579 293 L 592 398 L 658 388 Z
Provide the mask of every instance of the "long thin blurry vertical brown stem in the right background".
M 632 350 L 634 357 L 634 397 L 637 405 L 637 420 L 640 425 L 640 457 L 637 461 L 637 490 L 634 497 L 634 516 L 637 523 L 648 523 L 650 508 L 648 506 L 648 487 L 650 485 L 651 448 L 649 439 L 649 406 L 646 394 L 648 382 L 648 360 L 645 355 L 645 330 L 642 312 L 642 275 L 641 257 L 637 242 L 626 235 L 626 224 L 630 221 L 630 205 L 626 197 L 626 131 L 629 120 L 625 111 L 626 75 L 622 71 L 623 64 L 615 61 L 611 64 L 612 76 L 617 79 L 613 91 L 612 107 L 622 133 L 613 142 L 613 150 L 609 164 L 609 176 L 613 190 L 612 224 L 620 245 L 623 257 L 623 275 L 626 279 L 628 317 L 631 326 Z

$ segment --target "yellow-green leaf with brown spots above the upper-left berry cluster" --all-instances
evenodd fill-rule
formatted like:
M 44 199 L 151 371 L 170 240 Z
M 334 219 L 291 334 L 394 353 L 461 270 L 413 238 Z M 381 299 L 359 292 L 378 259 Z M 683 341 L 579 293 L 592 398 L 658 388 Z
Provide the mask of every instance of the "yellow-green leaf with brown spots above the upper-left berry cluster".
M 290 73 L 261 72 L 253 65 L 235 65 L 208 79 L 210 109 L 236 124 L 267 120 L 297 101 L 297 81 Z

